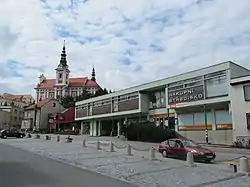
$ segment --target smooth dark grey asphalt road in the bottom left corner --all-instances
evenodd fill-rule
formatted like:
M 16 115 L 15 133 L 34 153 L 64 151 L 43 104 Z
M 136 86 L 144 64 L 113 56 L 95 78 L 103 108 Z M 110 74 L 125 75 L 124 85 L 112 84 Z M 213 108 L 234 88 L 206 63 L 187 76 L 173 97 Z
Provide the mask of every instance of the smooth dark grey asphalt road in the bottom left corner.
M 136 187 L 0 143 L 0 187 Z

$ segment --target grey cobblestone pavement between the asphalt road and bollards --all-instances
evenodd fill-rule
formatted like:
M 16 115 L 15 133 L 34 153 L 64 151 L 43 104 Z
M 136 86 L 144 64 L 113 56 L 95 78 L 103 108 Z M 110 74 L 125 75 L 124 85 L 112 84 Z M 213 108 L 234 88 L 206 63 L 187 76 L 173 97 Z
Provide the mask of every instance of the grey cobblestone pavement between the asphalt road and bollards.
M 97 150 L 96 139 L 88 139 L 87 148 L 82 147 L 82 137 L 79 140 L 74 139 L 73 143 L 65 143 L 63 138 L 60 142 L 56 142 L 55 137 L 50 141 L 46 141 L 43 137 L 42 139 L 7 139 L 0 140 L 0 143 L 142 187 L 247 187 L 250 183 L 249 177 L 233 173 L 232 168 L 227 165 L 199 163 L 197 167 L 189 167 L 185 161 L 164 159 L 160 154 L 156 154 L 157 160 L 152 161 L 149 159 L 149 150 L 146 150 L 149 146 L 137 147 L 137 151 L 132 151 L 133 156 L 127 156 L 122 143 L 118 146 L 123 148 L 115 148 L 115 152 L 110 153 L 107 144 L 110 140 L 102 140 L 102 150 Z M 133 144 L 133 146 L 136 145 Z

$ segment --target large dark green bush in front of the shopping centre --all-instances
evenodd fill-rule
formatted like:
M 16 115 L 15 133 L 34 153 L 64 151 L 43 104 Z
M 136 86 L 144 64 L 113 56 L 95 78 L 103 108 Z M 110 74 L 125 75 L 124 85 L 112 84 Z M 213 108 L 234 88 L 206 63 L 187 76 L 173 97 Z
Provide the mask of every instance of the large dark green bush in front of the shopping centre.
M 125 136 L 131 141 L 145 141 L 160 143 L 169 138 L 175 138 L 175 131 L 156 127 L 148 122 L 143 124 L 130 124 L 125 129 Z

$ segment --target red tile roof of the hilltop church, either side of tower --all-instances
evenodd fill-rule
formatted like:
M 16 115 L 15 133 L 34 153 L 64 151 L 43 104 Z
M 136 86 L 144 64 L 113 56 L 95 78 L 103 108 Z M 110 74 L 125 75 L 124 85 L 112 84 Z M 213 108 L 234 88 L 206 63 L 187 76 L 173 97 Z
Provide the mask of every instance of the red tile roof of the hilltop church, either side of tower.
M 42 83 L 37 84 L 36 89 L 52 89 L 55 86 L 55 79 L 46 79 Z M 100 87 L 97 82 L 88 79 L 88 77 L 69 78 L 69 87 Z

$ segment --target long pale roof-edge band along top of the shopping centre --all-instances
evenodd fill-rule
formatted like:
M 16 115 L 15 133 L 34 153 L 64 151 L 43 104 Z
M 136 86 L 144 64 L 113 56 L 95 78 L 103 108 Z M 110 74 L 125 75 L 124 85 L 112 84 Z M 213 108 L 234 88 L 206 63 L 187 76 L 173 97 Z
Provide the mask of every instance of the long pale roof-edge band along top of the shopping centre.
M 115 91 L 115 92 L 110 93 L 110 94 L 106 94 L 106 95 L 86 99 L 86 100 L 83 100 L 83 101 L 78 101 L 78 102 L 76 102 L 76 106 L 86 104 L 86 103 L 90 103 L 90 102 L 95 102 L 95 101 L 108 99 L 108 98 L 123 95 L 123 94 L 128 94 L 128 93 L 138 92 L 138 91 L 141 91 L 141 90 L 146 90 L 146 89 L 150 89 L 150 88 L 154 88 L 154 87 L 159 87 L 161 85 L 166 85 L 166 84 L 182 81 L 182 80 L 194 78 L 194 77 L 197 77 L 197 76 L 206 75 L 206 74 L 213 73 L 213 72 L 227 70 L 227 69 L 230 68 L 230 64 L 235 64 L 237 66 L 240 66 L 240 65 L 238 65 L 238 64 L 236 64 L 234 62 L 231 62 L 231 61 L 221 62 L 221 63 L 214 64 L 214 65 L 211 65 L 211 66 L 207 66 L 207 67 L 204 67 L 204 68 L 201 68 L 201 69 L 196 69 L 196 70 L 189 71 L 189 72 L 186 72 L 186 73 L 181 73 L 181 74 L 177 74 L 177 75 L 170 76 L 170 77 L 167 77 L 167 78 L 159 79 L 159 80 L 156 80 L 156 81 L 152 81 L 152 82 L 140 84 L 140 85 L 137 85 L 137 86 L 121 89 L 121 90 Z M 244 68 L 244 67 L 242 67 L 242 68 Z M 244 69 L 246 69 L 246 68 L 244 68 Z

